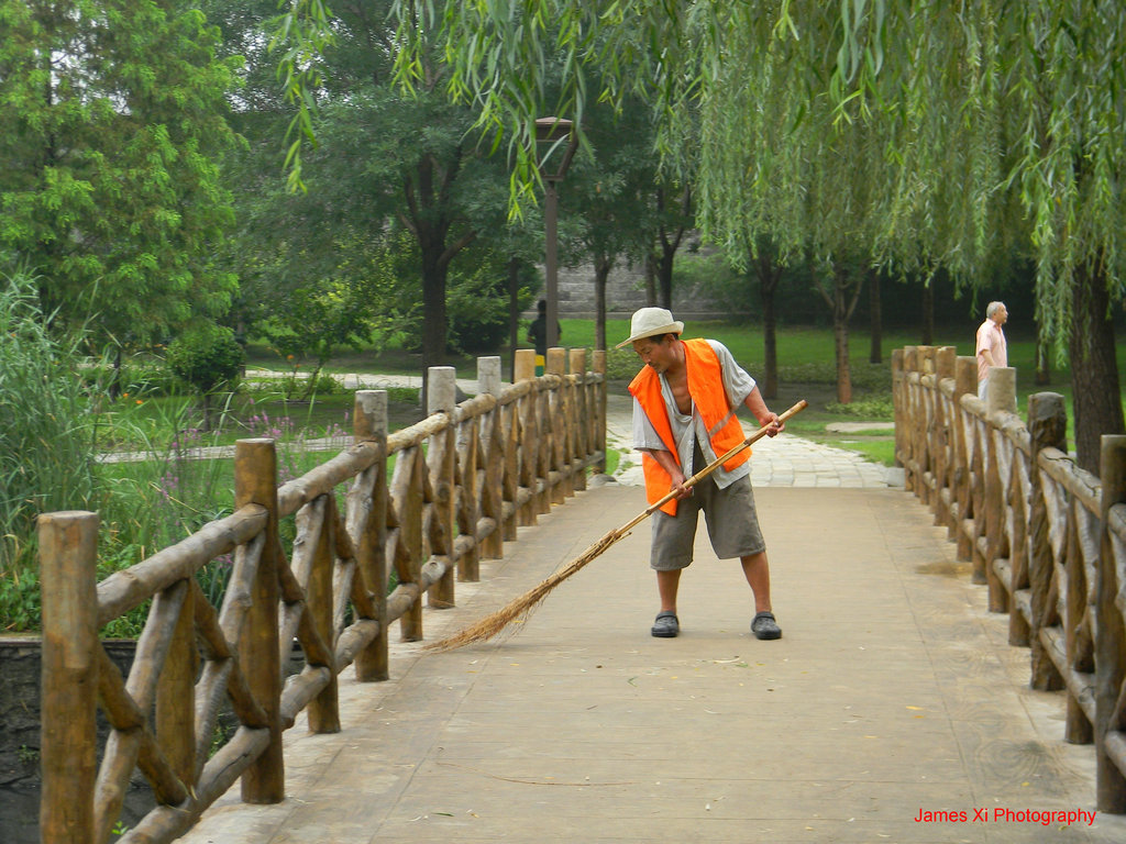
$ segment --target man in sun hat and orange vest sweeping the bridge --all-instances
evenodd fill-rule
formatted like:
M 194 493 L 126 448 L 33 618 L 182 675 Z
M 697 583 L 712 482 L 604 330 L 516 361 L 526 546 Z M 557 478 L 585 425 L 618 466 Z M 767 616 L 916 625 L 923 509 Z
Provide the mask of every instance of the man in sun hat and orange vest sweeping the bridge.
M 774 437 L 785 427 L 767 408 L 754 379 L 715 340 L 681 340 L 685 324 L 660 307 L 634 313 L 629 336 L 645 365 L 629 384 L 634 397 L 634 448 L 642 452 L 645 495 L 655 504 L 676 493 L 653 513 L 650 565 L 656 572 L 661 611 L 651 632 L 672 638 L 680 632 L 677 591 L 680 573 L 692 562 L 700 510 L 712 548 L 721 559 L 738 557 L 754 595 L 751 632 L 777 639 L 781 629 L 770 605 L 770 569 L 751 493 L 750 450 L 735 455 L 691 487 L 686 478 L 743 441 L 735 417 L 740 405 Z

